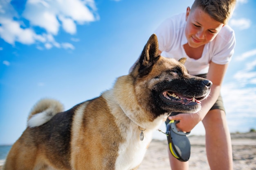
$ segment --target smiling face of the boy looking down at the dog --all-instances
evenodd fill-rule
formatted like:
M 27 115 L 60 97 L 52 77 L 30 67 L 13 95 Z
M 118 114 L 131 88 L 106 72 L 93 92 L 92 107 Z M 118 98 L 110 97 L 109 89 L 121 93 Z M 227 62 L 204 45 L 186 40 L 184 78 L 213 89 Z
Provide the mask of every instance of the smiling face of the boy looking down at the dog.
M 212 41 L 224 24 L 214 20 L 200 8 L 186 11 L 185 35 L 189 46 L 197 48 Z

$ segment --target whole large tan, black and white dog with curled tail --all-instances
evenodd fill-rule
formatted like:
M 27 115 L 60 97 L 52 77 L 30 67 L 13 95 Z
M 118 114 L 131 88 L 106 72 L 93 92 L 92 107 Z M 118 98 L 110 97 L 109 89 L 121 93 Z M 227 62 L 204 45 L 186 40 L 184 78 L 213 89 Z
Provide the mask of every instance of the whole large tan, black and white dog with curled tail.
M 132 72 L 101 96 L 63 112 L 58 102 L 40 100 L 4 169 L 136 169 L 163 120 L 172 111 L 199 111 L 209 95 L 211 82 L 189 75 L 184 61 L 159 56 L 153 34 Z

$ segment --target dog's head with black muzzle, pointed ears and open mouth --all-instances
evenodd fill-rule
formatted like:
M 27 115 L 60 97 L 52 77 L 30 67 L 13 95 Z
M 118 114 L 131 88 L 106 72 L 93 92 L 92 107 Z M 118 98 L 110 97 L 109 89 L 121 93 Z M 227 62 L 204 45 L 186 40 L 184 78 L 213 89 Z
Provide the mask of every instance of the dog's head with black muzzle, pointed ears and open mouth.
M 157 36 L 151 35 L 130 75 L 137 102 L 154 117 L 172 111 L 195 113 L 201 109 L 200 100 L 209 95 L 211 81 L 189 75 L 185 61 L 160 56 Z

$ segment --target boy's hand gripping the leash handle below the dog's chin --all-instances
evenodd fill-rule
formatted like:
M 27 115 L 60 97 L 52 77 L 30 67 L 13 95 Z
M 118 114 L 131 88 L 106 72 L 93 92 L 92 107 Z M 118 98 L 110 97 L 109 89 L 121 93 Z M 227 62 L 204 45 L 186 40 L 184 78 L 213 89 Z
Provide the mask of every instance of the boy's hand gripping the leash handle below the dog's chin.
M 175 116 L 169 116 L 168 119 L 180 120 L 176 127 L 183 132 L 190 132 L 201 121 L 198 113 L 180 113 Z

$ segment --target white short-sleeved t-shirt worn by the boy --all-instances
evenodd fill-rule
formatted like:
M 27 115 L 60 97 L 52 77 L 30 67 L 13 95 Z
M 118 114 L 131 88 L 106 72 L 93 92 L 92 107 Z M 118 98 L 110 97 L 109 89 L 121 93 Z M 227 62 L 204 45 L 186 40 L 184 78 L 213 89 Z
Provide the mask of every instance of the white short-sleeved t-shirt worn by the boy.
M 159 25 L 155 34 L 162 56 L 177 60 L 186 57 L 185 66 L 189 74 L 193 76 L 208 73 L 210 61 L 216 64 L 229 63 L 234 54 L 236 39 L 234 31 L 228 25 L 221 28 L 213 41 L 204 45 L 200 59 L 190 58 L 184 50 L 183 45 L 188 42 L 185 36 L 185 26 L 186 13 L 174 15 Z

